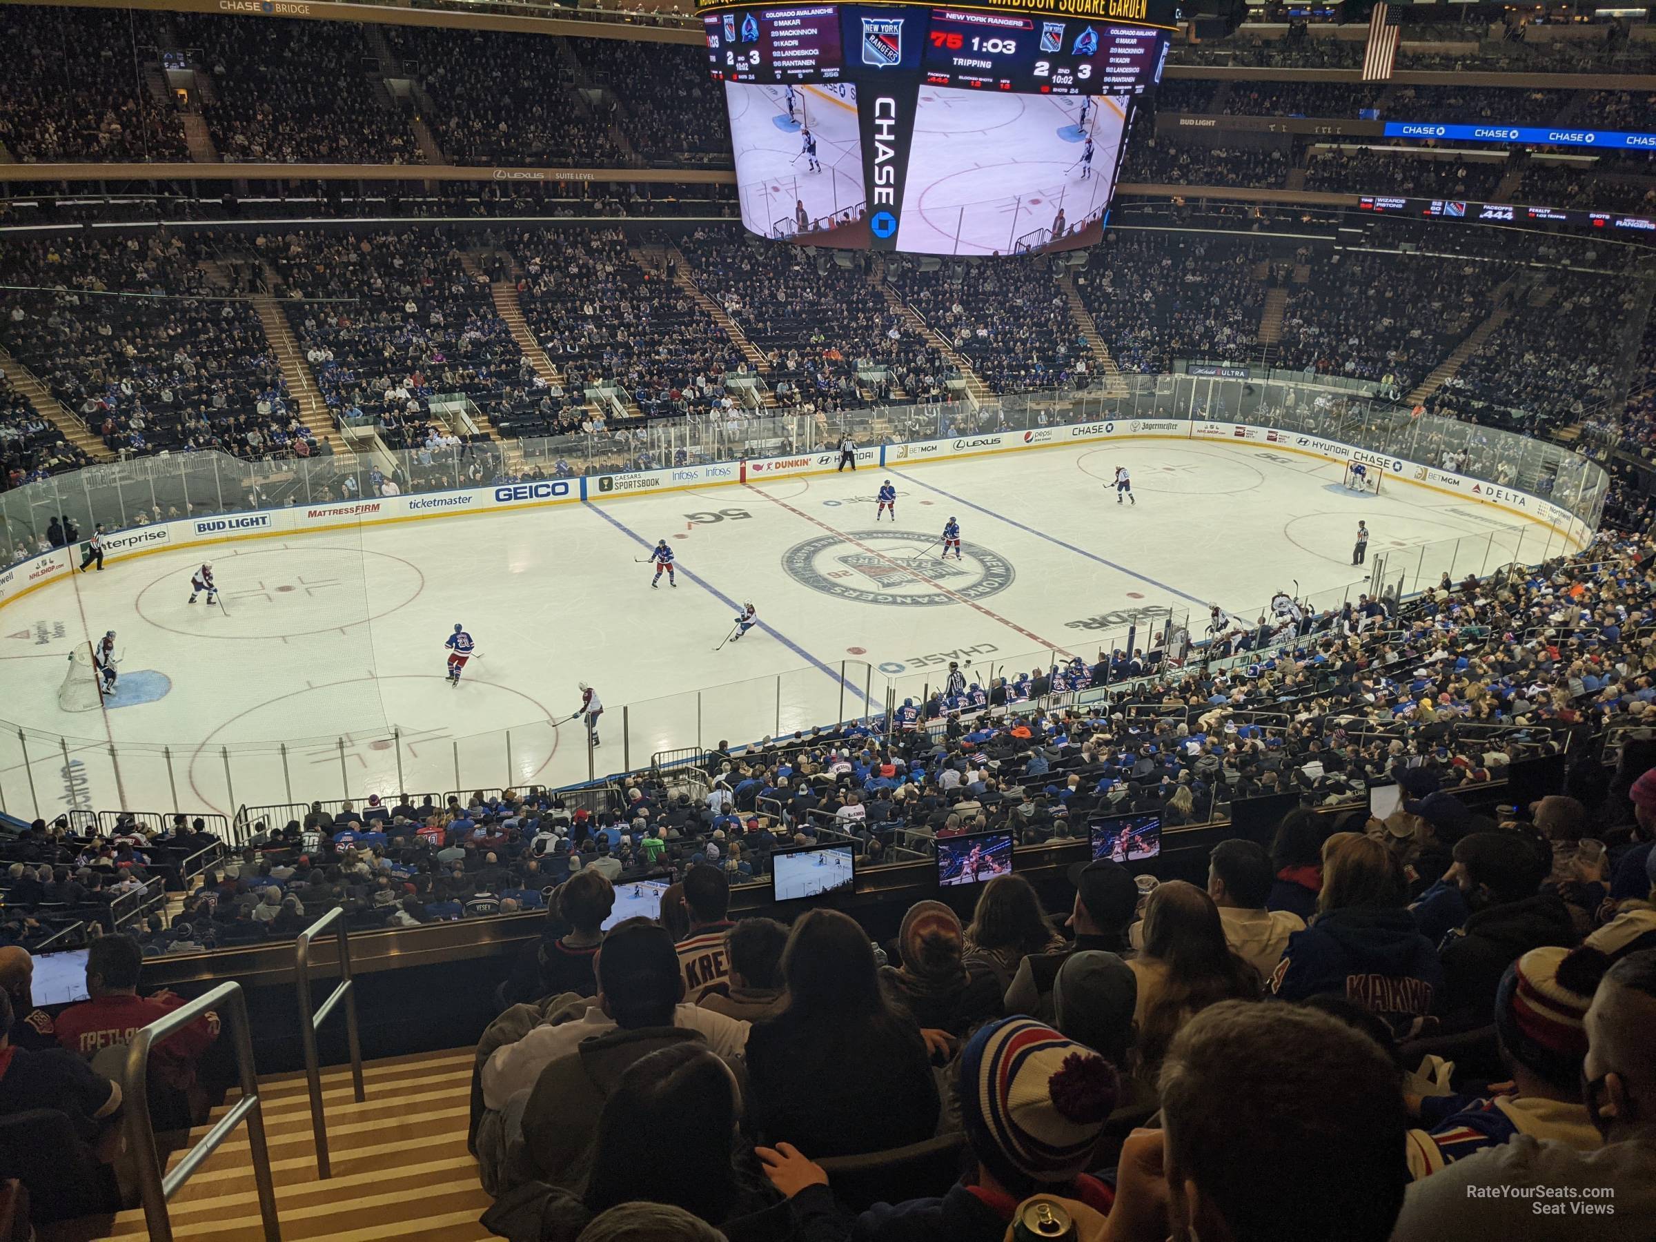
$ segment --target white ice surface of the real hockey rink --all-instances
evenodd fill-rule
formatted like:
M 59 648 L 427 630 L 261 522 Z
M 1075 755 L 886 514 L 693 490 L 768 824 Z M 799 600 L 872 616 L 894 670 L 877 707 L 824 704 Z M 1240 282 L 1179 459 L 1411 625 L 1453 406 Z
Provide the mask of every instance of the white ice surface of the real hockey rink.
M 1116 503 L 1116 465 L 1136 505 Z M 1293 580 L 1302 598 L 1355 599 L 1358 518 L 1371 560 L 1427 545 L 1432 580 L 1434 565 L 1462 576 L 1548 546 L 1545 527 L 1504 510 L 1393 475 L 1381 495 L 1353 493 L 1341 475 L 1265 447 L 1128 440 L 111 560 L 5 609 L 0 719 L 83 742 L 66 770 L 30 740 L 25 772 L 0 730 L 0 792 L 25 818 L 233 811 L 288 802 L 290 785 L 296 800 L 396 793 L 399 758 L 407 792 L 573 783 L 588 775 L 570 722 L 581 681 L 606 707 L 603 775 L 858 715 L 864 689 L 919 697 L 949 659 L 984 682 L 1053 652 L 1093 661 L 1141 609 L 1189 609 L 1201 634 L 1209 601 L 1254 619 Z M 883 479 L 894 523 L 874 520 Z M 926 548 L 949 517 L 964 558 L 944 563 Z M 657 538 L 677 553 L 676 588 L 651 590 L 636 563 Z M 1452 563 L 1446 540 L 1462 540 Z M 204 555 L 224 608 L 185 603 Z M 747 599 L 762 624 L 715 651 Z M 450 687 L 455 624 L 480 656 Z M 106 629 L 123 686 L 142 692 L 61 710 L 70 644 Z

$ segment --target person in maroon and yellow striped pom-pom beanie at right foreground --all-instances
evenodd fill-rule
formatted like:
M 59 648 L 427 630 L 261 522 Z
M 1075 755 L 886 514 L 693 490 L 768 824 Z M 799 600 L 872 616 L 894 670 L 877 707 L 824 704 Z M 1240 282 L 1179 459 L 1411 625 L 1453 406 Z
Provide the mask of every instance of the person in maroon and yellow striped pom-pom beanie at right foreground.
M 1409 1171 L 1437 1172 L 1459 1159 L 1510 1143 L 1517 1134 L 1553 1139 L 1577 1151 L 1601 1144 L 1581 1101 L 1586 1010 L 1605 974 L 1593 954 L 1558 946 L 1530 949 L 1507 967 L 1495 997 L 1495 1038 L 1512 1075 L 1507 1095 L 1409 1100 L 1426 1129 L 1409 1131 Z

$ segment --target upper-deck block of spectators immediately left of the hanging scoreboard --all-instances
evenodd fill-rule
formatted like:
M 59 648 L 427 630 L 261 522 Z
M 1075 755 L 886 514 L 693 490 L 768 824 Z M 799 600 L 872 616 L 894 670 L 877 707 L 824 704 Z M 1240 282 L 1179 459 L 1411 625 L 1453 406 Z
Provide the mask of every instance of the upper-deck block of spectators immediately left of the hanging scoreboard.
M 730 166 L 724 86 L 700 46 L 613 38 L 571 38 L 570 46 L 588 78 L 621 99 L 616 121 L 646 161 Z

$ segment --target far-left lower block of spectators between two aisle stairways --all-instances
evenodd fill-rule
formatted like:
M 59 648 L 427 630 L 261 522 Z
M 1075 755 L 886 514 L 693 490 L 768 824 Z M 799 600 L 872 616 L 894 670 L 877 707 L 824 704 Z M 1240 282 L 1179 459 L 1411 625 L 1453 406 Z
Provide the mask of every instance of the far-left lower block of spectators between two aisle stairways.
M 15 242 L 5 258 L 22 288 L 0 298 L 0 339 L 108 449 L 316 449 L 257 311 L 182 238 Z

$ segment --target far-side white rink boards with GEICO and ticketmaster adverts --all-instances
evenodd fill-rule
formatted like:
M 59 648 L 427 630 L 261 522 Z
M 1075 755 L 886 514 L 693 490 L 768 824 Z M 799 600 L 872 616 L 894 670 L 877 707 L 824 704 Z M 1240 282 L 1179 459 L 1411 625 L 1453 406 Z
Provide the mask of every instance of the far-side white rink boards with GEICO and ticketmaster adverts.
M 1552 530 L 1580 550 L 1591 538 L 1585 522 L 1568 510 L 1515 489 L 1489 484 L 1467 475 L 1449 474 L 1434 465 L 1378 454 L 1371 449 L 1330 440 L 1278 427 L 1255 427 L 1245 422 L 1182 422 L 1177 419 L 1103 419 L 1098 422 L 1004 431 L 952 439 L 906 440 L 856 450 L 858 467 L 907 469 L 956 457 L 982 457 L 1030 449 L 1061 449 L 1095 440 L 1206 440 L 1249 449 L 1293 452 L 1336 465 L 1360 462 L 1379 470 L 1388 485 L 1408 484 L 1459 500 L 1492 505 L 1515 517 Z M 176 518 L 149 527 L 104 535 L 104 558 L 121 563 L 181 546 L 212 546 L 243 540 L 283 538 L 306 533 L 358 530 L 361 527 L 429 518 L 484 517 L 553 505 L 603 503 L 636 495 L 702 490 L 763 484 L 770 479 L 836 474 L 840 454 L 808 452 L 785 457 L 752 457 L 709 465 L 679 465 L 664 470 L 583 475 L 578 479 L 543 479 L 523 484 L 421 492 L 417 495 L 379 497 L 318 505 L 288 505 L 222 517 Z M 1108 484 L 1106 484 L 1108 487 Z M 53 548 L 0 571 L 0 608 L 31 591 L 48 586 L 78 568 L 79 543 Z

